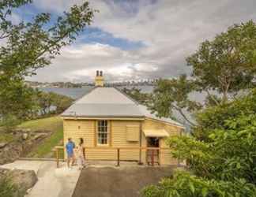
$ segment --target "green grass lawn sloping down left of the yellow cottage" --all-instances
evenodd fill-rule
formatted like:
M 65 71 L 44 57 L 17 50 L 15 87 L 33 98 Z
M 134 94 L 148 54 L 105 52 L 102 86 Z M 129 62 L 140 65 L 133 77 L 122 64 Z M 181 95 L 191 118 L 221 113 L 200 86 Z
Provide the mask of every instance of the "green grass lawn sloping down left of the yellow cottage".
M 33 121 L 26 121 L 18 126 L 18 128 L 29 128 L 31 132 L 36 130 L 51 131 L 53 132 L 50 137 L 44 139 L 43 142 L 38 144 L 38 146 L 32 150 L 28 157 L 36 158 L 49 158 L 53 157 L 52 149 L 57 146 L 63 139 L 63 124 L 62 118 L 46 117 Z

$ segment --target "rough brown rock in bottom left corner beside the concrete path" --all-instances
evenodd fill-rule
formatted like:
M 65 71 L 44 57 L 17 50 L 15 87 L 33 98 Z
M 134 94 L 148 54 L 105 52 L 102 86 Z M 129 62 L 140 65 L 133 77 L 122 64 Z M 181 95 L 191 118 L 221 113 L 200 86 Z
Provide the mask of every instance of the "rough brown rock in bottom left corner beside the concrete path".
M 0 181 L 6 178 L 9 180 L 9 184 L 15 187 L 13 197 L 24 196 L 28 189 L 37 182 L 36 173 L 33 170 L 0 169 Z

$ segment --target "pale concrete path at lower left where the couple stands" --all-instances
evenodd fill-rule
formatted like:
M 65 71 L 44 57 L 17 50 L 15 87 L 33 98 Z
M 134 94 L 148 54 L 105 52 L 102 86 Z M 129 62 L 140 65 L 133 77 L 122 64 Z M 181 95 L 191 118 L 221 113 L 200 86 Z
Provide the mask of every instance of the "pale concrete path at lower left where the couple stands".
M 60 166 L 57 169 L 56 162 L 42 161 L 16 161 L 1 165 L 2 168 L 32 169 L 36 172 L 38 181 L 26 197 L 71 197 L 81 171 L 77 167 L 67 169 L 65 163 L 60 163 Z

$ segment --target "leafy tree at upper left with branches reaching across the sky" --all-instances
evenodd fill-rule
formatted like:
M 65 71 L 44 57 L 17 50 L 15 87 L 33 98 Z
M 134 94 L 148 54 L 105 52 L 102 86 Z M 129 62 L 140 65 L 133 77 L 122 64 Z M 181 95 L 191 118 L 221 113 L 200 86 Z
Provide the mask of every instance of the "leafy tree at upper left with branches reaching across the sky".
M 24 76 L 35 75 L 36 69 L 50 65 L 63 46 L 70 45 L 83 29 L 92 23 L 94 10 L 88 2 L 72 6 L 53 23 L 50 13 L 39 13 L 32 21 L 13 24 L 9 16 L 31 0 L 0 2 L 0 114 L 13 113 L 22 118 L 30 110 L 28 87 Z M 51 25 L 53 24 L 53 25 Z M 19 101 L 19 102 L 16 102 Z M 13 103 L 15 103 L 13 105 Z M 25 105 L 24 105 L 25 104 Z M 2 106 L 4 106 L 2 108 Z

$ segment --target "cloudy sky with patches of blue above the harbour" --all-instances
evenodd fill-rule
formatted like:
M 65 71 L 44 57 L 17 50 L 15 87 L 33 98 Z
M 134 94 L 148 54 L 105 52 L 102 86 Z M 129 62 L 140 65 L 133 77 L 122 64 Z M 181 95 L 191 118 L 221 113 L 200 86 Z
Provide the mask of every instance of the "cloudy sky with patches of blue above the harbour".
M 61 15 L 81 0 L 34 0 L 13 20 L 35 13 Z M 91 26 L 65 46 L 51 65 L 27 80 L 92 82 L 103 70 L 109 82 L 190 74 L 186 57 L 205 39 L 256 18 L 255 0 L 91 0 Z

